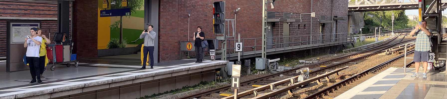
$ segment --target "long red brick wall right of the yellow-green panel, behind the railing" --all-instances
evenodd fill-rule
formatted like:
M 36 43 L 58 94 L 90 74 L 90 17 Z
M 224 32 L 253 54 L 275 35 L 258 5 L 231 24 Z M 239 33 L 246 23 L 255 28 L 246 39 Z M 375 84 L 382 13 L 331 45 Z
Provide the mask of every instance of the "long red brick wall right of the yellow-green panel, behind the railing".
M 203 27 L 207 39 L 215 39 L 212 34 L 212 7 L 213 2 L 219 0 L 160 0 L 159 13 L 159 61 L 166 62 L 179 59 L 179 41 L 187 41 L 188 37 L 192 40 L 192 32 L 196 31 L 197 26 Z M 233 10 L 241 8 L 236 15 L 236 34 L 241 33 L 241 39 L 261 38 L 262 26 L 262 1 L 261 0 L 225 0 L 226 1 L 226 19 L 234 19 Z M 325 16 L 325 20 L 331 20 L 333 16 L 347 17 L 348 2 L 346 0 L 313 0 L 312 12 L 316 12 L 316 17 L 312 18 L 312 35 L 320 32 L 319 16 Z M 311 2 L 309 0 L 277 0 L 275 8 L 271 9 L 268 4 L 269 12 L 276 12 L 277 18 L 283 18 L 283 13 L 292 13 L 291 19 L 299 19 L 300 13 L 311 13 Z M 332 7 L 333 6 L 333 10 Z M 188 27 L 188 14 L 190 16 L 190 27 Z M 291 23 L 290 36 L 310 35 L 311 17 L 303 15 L 303 22 Z M 300 30 L 298 30 L 298 24 Z M 304 30 L 306 24 L 306 30 Z M 337 21 L 337 33 L 347 32 L 347 22 Z M 227 25 L 226 25 L 227 26 Z M 230 25 L 231 26 L 231 25 Z M 190 36 L 188 36 L 190 28 Z M 282 36 L 283 23 L 274 24 L 274 36 Z M 331 34 L 331 24 L 326 24 L 323 34 Z M 330 35 L 325 36 L 326 38 Z M 317 36 L 312 36 L 317 40 Z M 237 38 L 229 38 L 237 39 Z M 292 38 L 290 39 L 292 40 Z M 300 39 L 295 38 L 295 41 Z M 310 37 L 301 38 L 311 40 Z M 256 45 L 261 45 L 261 39 L 256 40 Z M 234 42 L 234 41 L 231 41 Z M 247 43 L 252 42 L 252 43 Z M 245 40 L 244 46 L 253 46 L 254 40 Z M 233 44 L 228 44 L 228 48 L 233 48 Z M 261 47 L 257 47 L 260 50 Z M 232 50 L 230 50 L 232 51 Z M 252 48 L 245 48 L 244 51 L 253 51 Z M 190 53 L 191 54 L 191 53 Z

